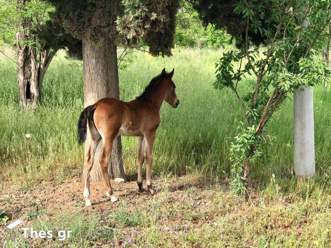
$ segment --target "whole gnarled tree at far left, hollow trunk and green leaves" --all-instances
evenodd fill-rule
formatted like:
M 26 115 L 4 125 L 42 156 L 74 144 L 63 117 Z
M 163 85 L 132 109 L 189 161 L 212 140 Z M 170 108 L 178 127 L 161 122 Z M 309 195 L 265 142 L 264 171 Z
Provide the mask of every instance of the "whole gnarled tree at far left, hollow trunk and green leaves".
M 27 106 L 37 107 L 46 70 L 56 52 L 77 43 L 72 36 L 61 35 L 61 26 L 50 23 L 52 9 L 52 5 L 42 1 L 0 0 L 0 45 L 15 50 L 17 60 L 0 52 L 17 63 L 23 110 Z

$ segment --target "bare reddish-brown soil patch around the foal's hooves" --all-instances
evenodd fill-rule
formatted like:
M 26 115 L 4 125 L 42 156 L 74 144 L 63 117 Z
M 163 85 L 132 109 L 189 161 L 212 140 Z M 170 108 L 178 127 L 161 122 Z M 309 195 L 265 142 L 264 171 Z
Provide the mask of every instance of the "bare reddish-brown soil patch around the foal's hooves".
M 121 200 L 135 201 L 137 205 L 142 204 L 146 199 L 158 200 L 160 191 L 165 186 L 161 180 L 153 182 L 153 187 L 157 189 L 157 194 L 151 196 L 148 191 L 139 192 L 138 186 L 135 181 L 117 183 L 111 180 L 111 184 L 114 190 L 114 194 L 118 196 L 117 202 L 111 202 L 110 198 L 105 195 L 105 187 L 103 181 L 91 182 L 90 192 L 92 209 L 105 210 L 105 206 L 109 209 L 116 210 L 120 205 Z M 171 185 L 167 191 L 171 192 L 172 201 L 176 199 L 192 199 L 192 195 L 187 191 L 188 188 L 194 186 L 195 193 L 202 192 L 205 190 L 204 186 L 199 183 L 185 183 L 177 182 Z M 146 185 L 144 185 L 145 188 Z M 68 183 L 52 186 L 49 182 L 43 182 L 32 191 L 15 191 L 8 190 L 4 195 L 0 195 L 0 201 L 5 202 L 6 199 L 10 199 L 12 204 L 9 205 L 13 216 L 21 216 L 27 207 L 27 203 L 36 202 L 46 208 L 47 213 L 52 215 L 58 213 L 61 210 L 73 211 L 77 208 L 84 208 L 85 201 L 83 200 L 84 182 L 81 178 L 73 178 Z

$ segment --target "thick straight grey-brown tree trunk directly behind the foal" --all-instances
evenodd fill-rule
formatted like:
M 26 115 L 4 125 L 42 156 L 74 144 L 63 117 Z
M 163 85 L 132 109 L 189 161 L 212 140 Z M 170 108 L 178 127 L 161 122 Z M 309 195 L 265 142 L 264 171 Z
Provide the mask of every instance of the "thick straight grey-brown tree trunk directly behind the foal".
M 99 99 L 113 97 L 119 99 L 118 66 L 116 46 L 105 35 L 100 44 L 89 39 L 83 39 L 83 69 L 84 69 L 84 107 Z M 89 131 L 85 141 L 85 152 L 89 144 Z M 101 141 L 90 174 L 90 180 L 102 180 L 99 155 L 103 142 Z M 122 163 L 122 144 L 120 136 L 114 142 L 112 159 L 109 164 L 110 178 L 125 178 Z M 85 171 L 83 171 L 83 178 Z

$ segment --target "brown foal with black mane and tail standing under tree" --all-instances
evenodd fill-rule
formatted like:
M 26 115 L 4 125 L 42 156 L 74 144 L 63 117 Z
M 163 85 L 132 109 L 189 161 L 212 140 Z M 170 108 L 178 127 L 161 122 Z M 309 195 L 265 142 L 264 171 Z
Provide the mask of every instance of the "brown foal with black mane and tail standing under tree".
M 146 184 L 151 195 L 155 194 L 152 187 L 152 150 L 155 131 L 160 124 L 160 108 L 163 101 L 176 108 L 179 100 L 172 81 L 174 69 L 166 73 L 164 68 L 160 75 L 152 79 L 141 96 L 131 102 L 123 102 L 115 98 L 103 98 L 86 107 L 78 120 L 78 142 L 86 140 L 87 125 L 90 132 L 90 144 L 84 159 L 85 205 L 90 206 L 90 171 L 94 154 L 101 139 L 103 147 L 99 157 L 106 194 L 112 202 L 117 201 L 109 181 L 108 164 L 111 159 L 113 142 L 118 135 L 136 136 L 138 150 L 138 180 L 139 191 L 143 187 L 142 166 L 146 160 Z

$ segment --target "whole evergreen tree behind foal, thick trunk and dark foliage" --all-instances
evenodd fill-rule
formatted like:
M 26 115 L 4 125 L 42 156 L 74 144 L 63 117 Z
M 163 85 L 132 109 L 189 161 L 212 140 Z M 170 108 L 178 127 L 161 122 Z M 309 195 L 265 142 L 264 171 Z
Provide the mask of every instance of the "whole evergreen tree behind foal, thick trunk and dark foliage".
M 178 0 L 52 0 L 54 21 L 66 33 L 82 41 L 84 106 L 105 97 L 119 99 L 117 46 L 131 47 L 142 41 L 154 55 L 171 55 Z M 85 144 L 88 144 L 89 137 Z M 91 180 L 101 180 L 98 157 Z M 124 178 L 121 139 L 113 146 L 109 166 L 111 178 Z M 85 152 L 87 145 L 85 145 Z M 83 176 L 84 176 L 83 172 Z

